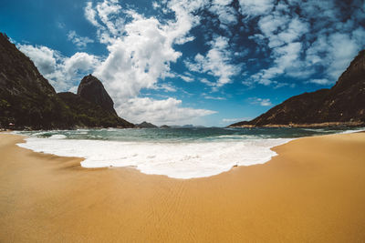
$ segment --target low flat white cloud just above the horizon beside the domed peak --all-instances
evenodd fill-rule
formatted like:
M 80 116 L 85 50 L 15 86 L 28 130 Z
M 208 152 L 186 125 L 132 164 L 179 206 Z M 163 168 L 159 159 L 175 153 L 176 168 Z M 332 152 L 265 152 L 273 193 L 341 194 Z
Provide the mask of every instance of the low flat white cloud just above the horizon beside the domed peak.
M 157 125 L 183 125 L 216 113 L 213 110 L 186 108 L 181 105 L 181 100 L 172 97 L 162 100 L 133 97 L 116 109 L 130 122 L 141 123 L 147 120 Z

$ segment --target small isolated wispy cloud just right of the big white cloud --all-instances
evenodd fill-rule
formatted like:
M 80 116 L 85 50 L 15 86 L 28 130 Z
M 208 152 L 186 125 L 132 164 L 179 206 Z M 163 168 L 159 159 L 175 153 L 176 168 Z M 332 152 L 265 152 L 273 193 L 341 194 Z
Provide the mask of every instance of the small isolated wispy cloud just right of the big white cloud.
M 224 86 L 231 83 L 231 77 L 235 76 L 241 70 L 240 66 L 231 64 L 232 52 L 229 50 L 229 39 L 224 36 L 216 37 L 211 43 L 211 49 L 205 56 L 197 54 L 192 61 L 185 61 L 185 66 L 190 71 L 198 73 L 207 73 L 215 76 L 217 81 L 215 87 Z M 212 84 L 212 82 L 206 82 Z

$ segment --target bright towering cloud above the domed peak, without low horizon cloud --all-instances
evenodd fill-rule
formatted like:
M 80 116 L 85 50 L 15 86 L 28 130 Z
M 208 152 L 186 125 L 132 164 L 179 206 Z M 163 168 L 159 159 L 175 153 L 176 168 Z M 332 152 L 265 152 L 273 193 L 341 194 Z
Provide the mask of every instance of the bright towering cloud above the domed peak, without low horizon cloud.
M 138 96 L 141 88 L 153 88 L 159 79 L 170 76 L 170 63 L 182 54 L 173 44 L 193 40 L 187 36 L 198 18 L 190 13 L 199 8 L 201 1 L 171 1 L 167 5 L 175 13 L 175 20 L 162 24 L 155 17 L 144 17 L 132 10 L 123 10 L 130 19 L 125 23 L 119 15 L 120 5 L 116 1 L 104 1 L 95 6 L 88 4 L 85 12 L 91 23 L 96 19 L 100 42 L 107 44 L 109 56 L 94 72 L 104 80 L 116 103 Z M 95 14 L 95 15 L 94 15 Z M 116 26 L 120 26 L 120 31 Z M 189 78 L 183 77 L 184 80 Z

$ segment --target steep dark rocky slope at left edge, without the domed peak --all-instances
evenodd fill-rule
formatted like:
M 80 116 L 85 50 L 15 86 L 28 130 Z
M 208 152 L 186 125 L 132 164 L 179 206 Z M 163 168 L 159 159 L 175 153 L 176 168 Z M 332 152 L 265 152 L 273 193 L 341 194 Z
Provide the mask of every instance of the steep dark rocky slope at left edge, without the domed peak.
M 47 79 L 0 33 L 0 127 L 63 127 L 68 116 Z

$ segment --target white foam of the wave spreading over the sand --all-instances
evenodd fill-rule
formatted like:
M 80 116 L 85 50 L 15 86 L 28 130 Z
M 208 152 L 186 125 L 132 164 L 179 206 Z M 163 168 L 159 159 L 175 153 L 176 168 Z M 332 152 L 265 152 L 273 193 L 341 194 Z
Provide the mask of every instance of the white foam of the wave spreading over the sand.
M 148 143 L 28 137 L 19 147 L 61 157 L 84 157 L 82 167 L 137 167 L 142 173 L 174 178 L 210 177 L 234 166 L 263 164 L 271 147 L 291 139 L 236 142 Z

